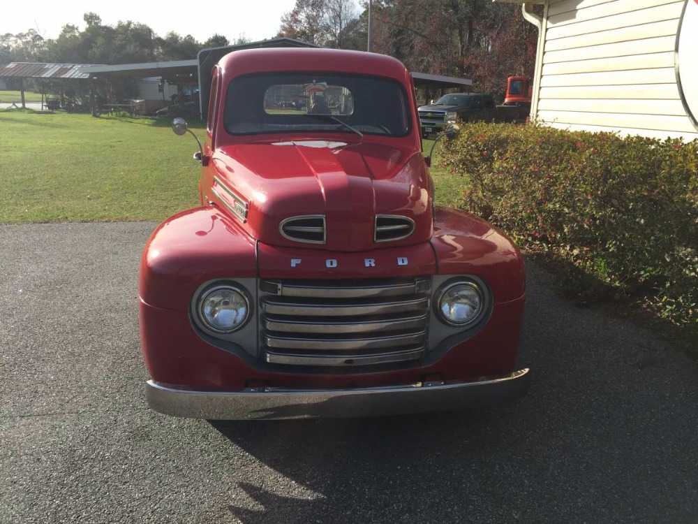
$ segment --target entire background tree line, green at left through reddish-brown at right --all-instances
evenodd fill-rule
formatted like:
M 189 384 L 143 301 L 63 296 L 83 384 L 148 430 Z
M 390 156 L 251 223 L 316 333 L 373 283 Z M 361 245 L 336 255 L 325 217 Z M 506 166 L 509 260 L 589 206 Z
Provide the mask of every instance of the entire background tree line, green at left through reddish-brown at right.
M 466 77 L 473 89 L 503 94 L 508 75 L 532 75 L 537 33 L 523 20 L 521 6 L 491 0 L 373 0 L 371 51 L 389 54 L 410 71 Z M 129 64 L 193 59 L 199 50 L 229 41 L 214 34 L 205 42 L 169 32 L 158 36 L 146 24 L 103 24 L 96 13 L 84 29 L 66 24 L 57 38 L 34 29 L 0 35 L 0 64 L 12 61 L 73 64 Z M 275 36 L 330 48 L 366 50 L 369 5 L 356 0 L 296 0 Z

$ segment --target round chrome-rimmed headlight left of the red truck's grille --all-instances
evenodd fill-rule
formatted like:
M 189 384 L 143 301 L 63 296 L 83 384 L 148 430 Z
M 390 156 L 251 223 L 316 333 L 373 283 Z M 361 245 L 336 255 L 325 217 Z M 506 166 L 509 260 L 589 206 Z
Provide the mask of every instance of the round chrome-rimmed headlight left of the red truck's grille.
M 245 293 L 232 286 L 216 286 L 199 299 L 199 318 L 218 333 L 230 333 L 243 326 L 249 310 Z

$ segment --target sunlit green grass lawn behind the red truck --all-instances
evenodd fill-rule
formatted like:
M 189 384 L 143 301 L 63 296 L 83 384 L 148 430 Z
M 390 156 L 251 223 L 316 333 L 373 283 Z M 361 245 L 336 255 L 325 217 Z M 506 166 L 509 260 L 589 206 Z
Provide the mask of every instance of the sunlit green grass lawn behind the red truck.
M 198 203 L 198 146 L 169 120 L 0 111 L 0 144 L 0 222 L 161 221 Z M 432 173 L 456 205 L 462 177 Z

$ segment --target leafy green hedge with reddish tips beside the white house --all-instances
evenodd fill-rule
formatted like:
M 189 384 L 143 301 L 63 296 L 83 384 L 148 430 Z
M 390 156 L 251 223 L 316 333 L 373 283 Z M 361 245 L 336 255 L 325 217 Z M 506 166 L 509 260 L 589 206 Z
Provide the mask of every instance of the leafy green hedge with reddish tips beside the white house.
M 521 247 L 698 326 L 698 140 L 468 124 L 439 163 Z

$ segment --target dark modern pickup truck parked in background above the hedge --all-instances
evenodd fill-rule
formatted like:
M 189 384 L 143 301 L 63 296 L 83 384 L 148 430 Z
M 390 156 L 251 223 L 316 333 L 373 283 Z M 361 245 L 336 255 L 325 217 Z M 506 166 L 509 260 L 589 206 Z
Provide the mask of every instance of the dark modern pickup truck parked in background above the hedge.
M 456 122 L 525 122 L 528 112 L 518 105 L 496 105 L 489 94 L 452 93 L 419 108 L 422 136 L 444 131 Z

